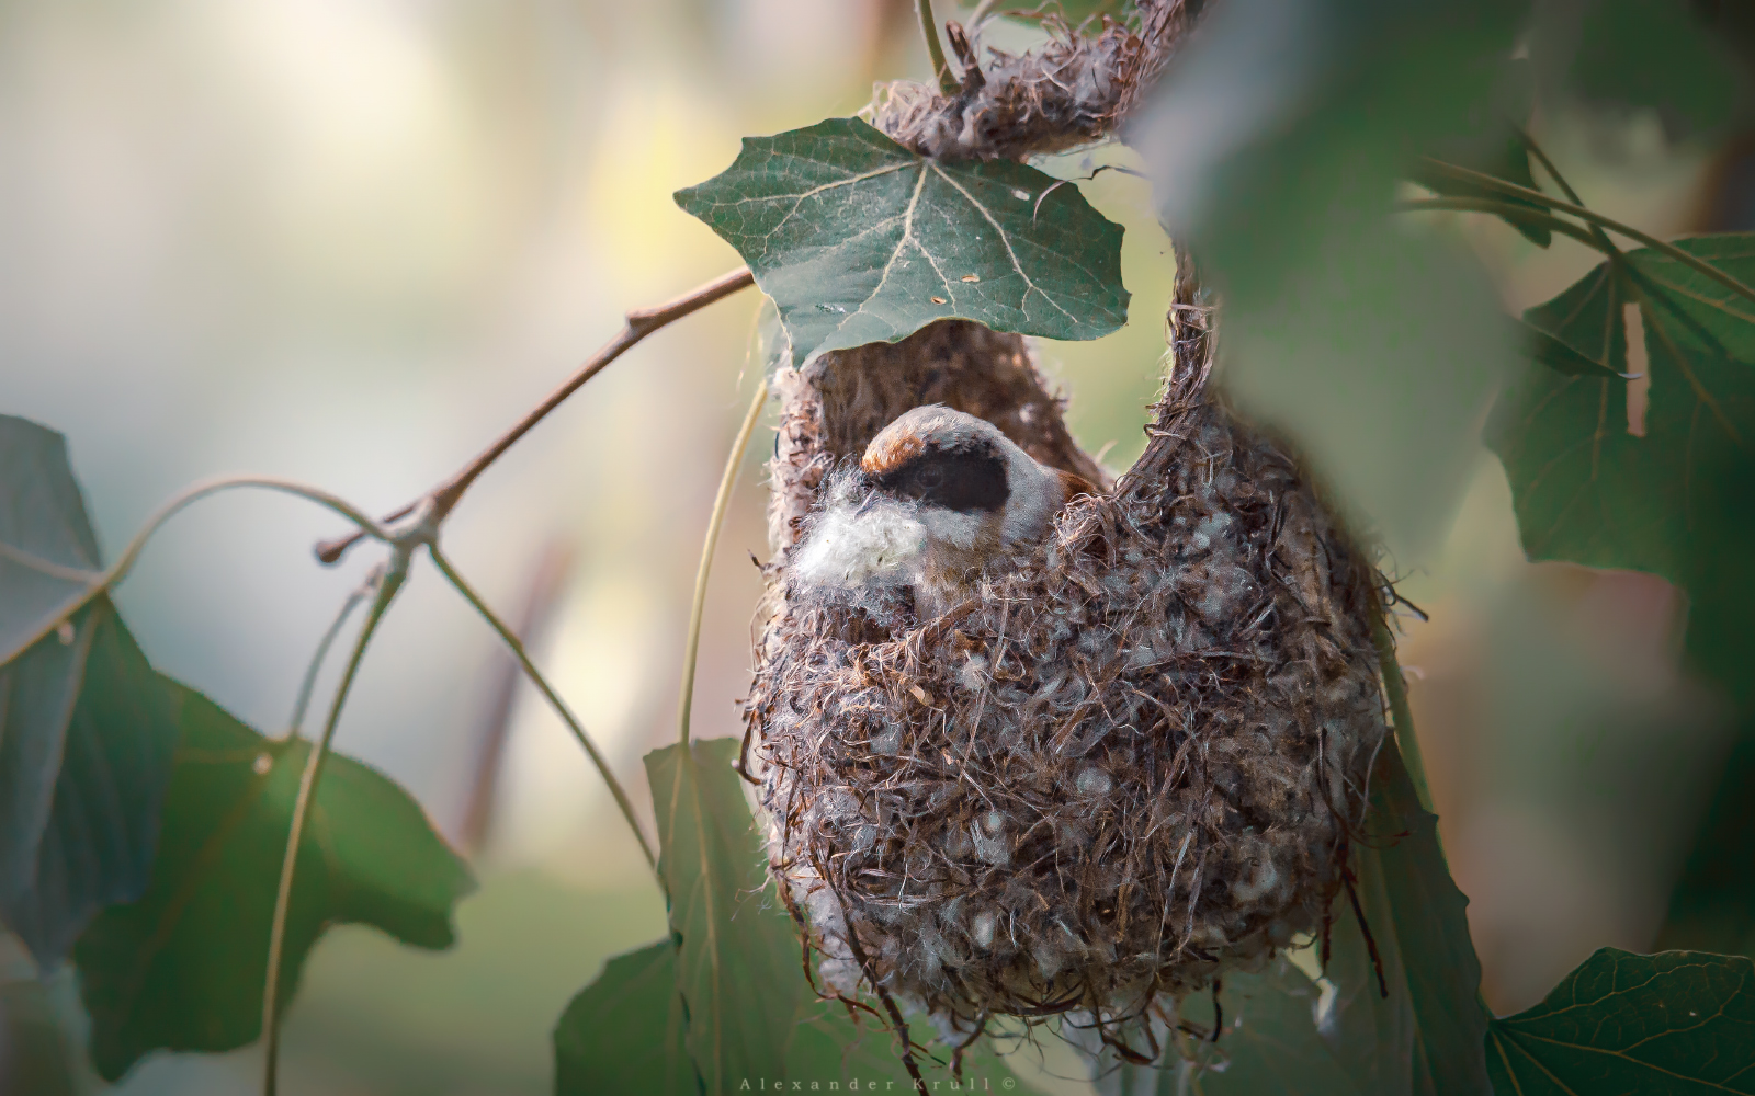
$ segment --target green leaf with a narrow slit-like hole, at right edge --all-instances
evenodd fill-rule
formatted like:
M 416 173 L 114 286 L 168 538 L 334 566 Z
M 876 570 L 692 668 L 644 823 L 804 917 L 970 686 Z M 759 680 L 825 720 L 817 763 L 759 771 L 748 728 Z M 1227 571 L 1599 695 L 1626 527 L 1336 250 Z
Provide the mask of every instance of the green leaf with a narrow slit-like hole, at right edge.
M 1751 235 L 1676 246 L 1755 275 Z M 1655 251 L 1625 263 L 1625 275 L 1599 265 L 1525 319 L 1627 372 L 1623 312 L 1639 303 L 1651 379 L 1644 437 L 1629 431 L 1625 381 L 1529 370 L 1501 396 L 1486 442 L 1506 465 L 1532 559 L 1655 572 L 1709 612 L 1709 600 L 1743 586 L 1720 573 L 1732 545 L 1709 535 L 1755 466 L 1755 303 Z

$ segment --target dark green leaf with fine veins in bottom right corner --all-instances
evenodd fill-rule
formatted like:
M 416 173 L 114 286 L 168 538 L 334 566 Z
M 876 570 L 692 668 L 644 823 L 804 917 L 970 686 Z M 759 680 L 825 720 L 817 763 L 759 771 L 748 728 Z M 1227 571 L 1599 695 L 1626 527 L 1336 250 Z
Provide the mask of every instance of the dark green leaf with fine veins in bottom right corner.
M 1486 1045 L 1502 1096 L 1755 1092 L 1755 963 L 1604 947 Z

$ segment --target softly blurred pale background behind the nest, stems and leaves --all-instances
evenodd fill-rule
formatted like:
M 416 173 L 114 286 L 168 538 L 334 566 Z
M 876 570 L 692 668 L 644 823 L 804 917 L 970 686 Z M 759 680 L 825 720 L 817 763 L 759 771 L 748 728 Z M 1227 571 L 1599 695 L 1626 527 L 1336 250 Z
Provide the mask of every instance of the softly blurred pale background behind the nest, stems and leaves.
M 728 165 L 744 133 L 851 114 L 872 79 L 925 68 L 911 0 L 0 2 L 0 412 L 67 433 L 112 554 L 218 473 L 388 510 L 546 395 L 623 310 L 737 265 L 676 188 Z M 1595 209 L 1646 231 L 1755 217 L 1746 140 L 1680 140 L 1655 112 L 1543 114 L 1536 133 Z M 1044 167 L 1095 163 L 1135 160 Z M 1083 186 L 1127 226 L 1132 319 L 1039 354 L 1074 435 L 1123 468 L 1157 388 L 1172 258 L 1146 182 Z M 1406 230 L 1471 249 L 1511 310 L 1595 261 L 1465 214 Z M 758 303 L 741 295 L 627 354 L 449 524 L 458 566 L 521 623 L 648 812 L 641 756 L 674 735 L 700 540 L 760 368 Z M 702 738 L 742 731 L 765 452 L 758 435 L 714 565 Z M 1457 461 L 1392 565 L 1430 617 L 1408 619 L 1404 661 L 1486 998 L 1509 1012 L 1601 945 L 1651 947 L 1729 737 L 1720 701 L 1678 670 L 1685 600 L 1646 575 L 1525 563 L 1497 461 L 1479 445 Z M 277 731 L 372 563 L 316 566 L 311 544 L 335 531 L 295 500 L 228 495 L 161 533 L 119 601 L 154 665 Z M 284 1091 L 546 1092 L 565 1001 L 663 931 L 609 796 L 426 568 L 337 747 L 409 787 L 483 886 L 451 952 L 328 935 L 290 1014 Z M 16 949 L 0 957 L 28 977 Z M 40 1015 L 11 1007 L 11 1028 L 77 1040 L 72 975 L 51 996 Z M 256 1073 L 254 1049 L 158 1056 L 116 1091 L 237 1092 Z

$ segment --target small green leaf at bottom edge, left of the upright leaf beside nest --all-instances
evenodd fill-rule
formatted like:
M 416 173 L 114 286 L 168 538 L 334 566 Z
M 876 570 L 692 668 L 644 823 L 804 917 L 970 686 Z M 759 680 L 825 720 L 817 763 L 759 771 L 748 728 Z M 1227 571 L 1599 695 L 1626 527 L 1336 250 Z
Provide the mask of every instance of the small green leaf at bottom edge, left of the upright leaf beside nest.
M 556 1096 L 698 1096 L 684 1029 L 676 943 L 616 956 L 555 1026 Z

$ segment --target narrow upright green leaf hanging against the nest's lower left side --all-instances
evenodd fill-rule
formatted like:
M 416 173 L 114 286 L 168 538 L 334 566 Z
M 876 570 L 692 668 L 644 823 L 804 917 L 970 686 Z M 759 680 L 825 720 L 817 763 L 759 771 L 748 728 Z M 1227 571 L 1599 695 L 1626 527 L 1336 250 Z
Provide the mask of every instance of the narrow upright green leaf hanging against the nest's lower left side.
M 790 921 L 763 910 L 765 858 L 732 770 L 739 745 L 713 738 L 646 756 L 688 1050 L 709 1096 L 786 1077 L 792 1017 L 809 994 Z

